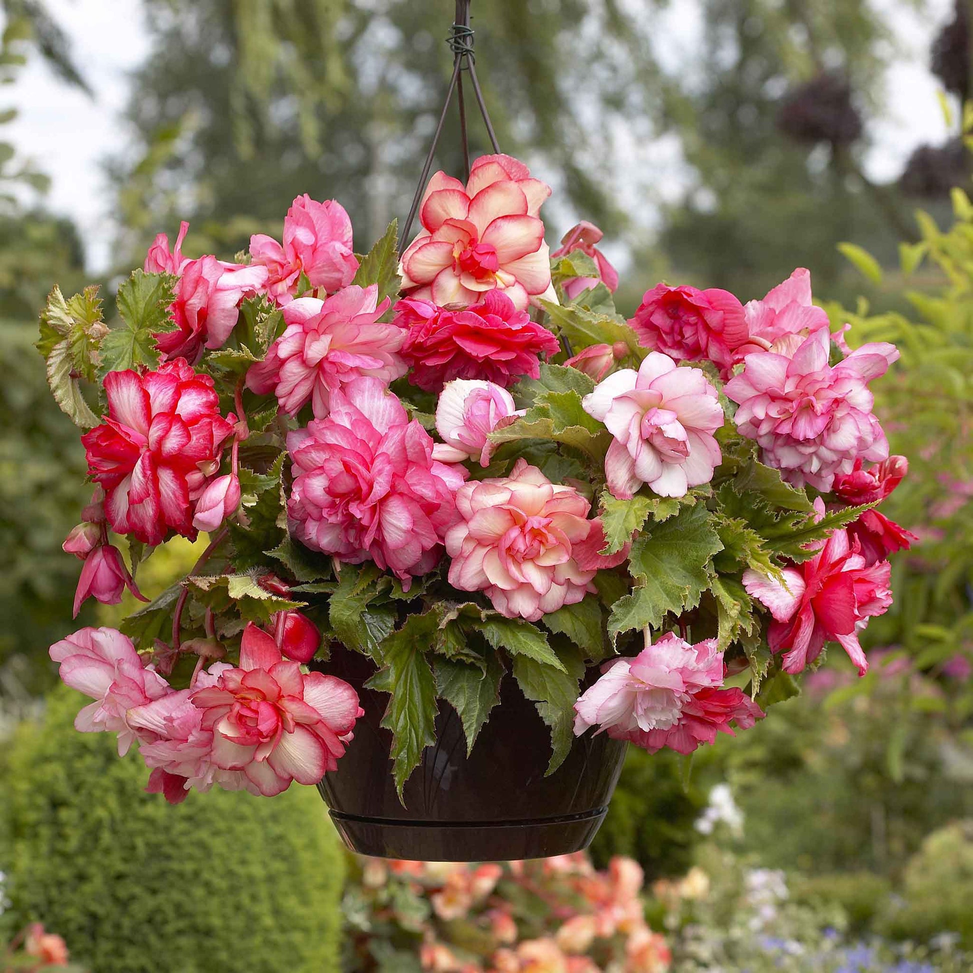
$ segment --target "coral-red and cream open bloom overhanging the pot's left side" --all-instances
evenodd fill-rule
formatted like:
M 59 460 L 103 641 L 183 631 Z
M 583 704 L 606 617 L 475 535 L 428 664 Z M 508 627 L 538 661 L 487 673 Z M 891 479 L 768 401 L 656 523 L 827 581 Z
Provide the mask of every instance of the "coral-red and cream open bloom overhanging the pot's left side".
M 303 673 L 252 622 L 243 631 L 239 667 L 224 668 L 216 685 L 196 690 L 190 702 L 202 712 L 202 729 L 213 733 L 213 764 L 242 772 L 266 797 L 292 780 L 315 784 L 335 770 L 362 714 L 351 686 Z

